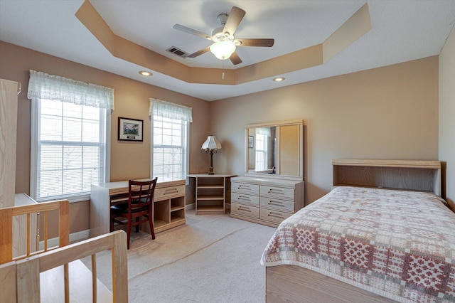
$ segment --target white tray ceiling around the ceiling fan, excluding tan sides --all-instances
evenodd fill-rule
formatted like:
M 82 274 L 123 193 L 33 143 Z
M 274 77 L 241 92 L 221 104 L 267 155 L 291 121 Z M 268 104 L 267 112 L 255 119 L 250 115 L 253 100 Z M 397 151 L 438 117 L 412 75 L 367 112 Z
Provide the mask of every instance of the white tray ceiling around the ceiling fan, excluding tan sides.
M 365 0 L 90 0 L 118 36 L 191 67 L 234 69 L 322 43 Z M 455 23 L 455 0 L 368 0 L 371 30 L 327 63 L 240 85 L 185 83 L 112 56 L 75 17 L 83 0 L 0 0 L 0 40 L 72 60 L 110 73 L 213 101 L 334 75 L 378 68 L 438 55 Z M 210 41 L 172 28 L 175 23 L 211 34 L 216 16 L 232 6 L 246 11 L 236 38 L 274 38 L 272 48 L 242 47 L 243 63 L 232 65 L 211 53 L 179 58 L 165 50 L 188 53 Z M 1 55 L 1 53 L 0 53 Z

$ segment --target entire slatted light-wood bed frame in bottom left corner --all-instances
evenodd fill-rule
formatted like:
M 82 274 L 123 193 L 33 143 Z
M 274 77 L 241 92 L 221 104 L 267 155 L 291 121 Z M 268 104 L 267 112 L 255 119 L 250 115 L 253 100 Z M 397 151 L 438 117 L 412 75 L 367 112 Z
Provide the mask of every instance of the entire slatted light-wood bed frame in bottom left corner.
M 58 246 L 48 247 L 48 212 L 58 211 Z M 44 219 L 44 248 L 31 248 L 31 215 Z M 13 223 L 26 230 L 26 254 L 14 255 Z M 51 201 L 0 208 L 0 303 L 3 302 L 128 302 L 127 234 L 123 230 L 68 245 L 69 202 Z M 98 252 L 111 250 L 112 292 L 97 279 Z M 92 270 L 80 260 L 91 256 Z

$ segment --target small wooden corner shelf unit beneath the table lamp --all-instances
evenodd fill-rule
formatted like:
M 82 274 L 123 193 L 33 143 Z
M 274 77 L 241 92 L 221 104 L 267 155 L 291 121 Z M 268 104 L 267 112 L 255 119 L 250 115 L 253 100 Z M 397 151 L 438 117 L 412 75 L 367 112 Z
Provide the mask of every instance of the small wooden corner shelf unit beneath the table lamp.
M 195 179 L 196 215 L 225 213 L 230 198 L 230 174 L 191 174 Z

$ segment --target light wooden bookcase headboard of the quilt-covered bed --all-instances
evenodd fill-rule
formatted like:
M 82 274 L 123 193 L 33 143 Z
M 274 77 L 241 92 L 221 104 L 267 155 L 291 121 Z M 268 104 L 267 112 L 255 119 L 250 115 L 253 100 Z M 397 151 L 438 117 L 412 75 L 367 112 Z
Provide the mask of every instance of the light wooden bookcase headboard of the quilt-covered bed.
M 335 159 L 333 186 L 364 186 L 429 191 L 441 196 L 441 162 Z

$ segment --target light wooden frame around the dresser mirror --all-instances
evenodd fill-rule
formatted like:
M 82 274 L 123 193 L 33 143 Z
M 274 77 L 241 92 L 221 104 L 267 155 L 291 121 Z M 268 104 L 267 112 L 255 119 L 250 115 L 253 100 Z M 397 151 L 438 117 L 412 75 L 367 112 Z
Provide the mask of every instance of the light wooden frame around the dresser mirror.
M 263 174 L 257 173 L 253 171 L 248 171 L 248 162 L 249 162 L 249 151 L 248 151 L 248 135 L 249 129 L 258 128 L 258 127 L 277 127 L 277 150 L 276 152 L 276 166 L 277 171 L 280 171 L 280 163 L 279 163 L 279 156 L 282 153 L 280 151 L 280 127 L 282 126 L 291 126 L 296 125 L 299 129 L 298 140 L 297 142 L 299 151 L 297 153 L 297 162 L 298 162 L 298 174 L 294 175 L 284 175 L 284 174 Z M 272 178 L 272 179 L 286 179 L 286 180 L 295 180 L 295 181 L 303 181 L 304 180 L 304 120 L 303 119 L 295 119 L 295 120 L 287 120 L 287 121 L 279 121 L 279 122 L 267 122 L 267 123 L 255 123 L 255 124 L 247 124 L 245 125 L 245 176 L 254 176 L 255 178 Z

